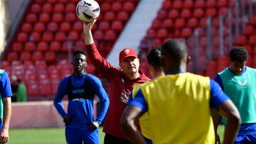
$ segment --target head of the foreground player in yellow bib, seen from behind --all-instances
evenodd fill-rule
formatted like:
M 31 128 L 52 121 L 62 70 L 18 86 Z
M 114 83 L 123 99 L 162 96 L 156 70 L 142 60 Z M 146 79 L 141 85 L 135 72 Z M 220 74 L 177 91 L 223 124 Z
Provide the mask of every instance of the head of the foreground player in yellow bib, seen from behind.
M 166 40 L 162 45 L 161 57 L 161 65 L 164 67 L 164 72 L 186 72 L 187 63 L 188 50 L 186 44 L 177 39 Z

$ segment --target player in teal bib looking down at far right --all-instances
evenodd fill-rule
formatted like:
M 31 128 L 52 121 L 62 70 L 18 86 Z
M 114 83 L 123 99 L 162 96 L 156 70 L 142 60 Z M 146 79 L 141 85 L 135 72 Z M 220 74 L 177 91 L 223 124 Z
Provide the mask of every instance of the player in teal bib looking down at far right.
M 215 77 L 215 81 L 233 101 L 242 118 L 235 143 L 256 143 L 256 69 L 245 65 L 247 59 L 248 52 L 245 48 L 233 48 L 230 50 L 230 67 Z M 214 116 L 217 131 L 221 118 L 219 115 Z M 226 123 L 225 119 L 223 123 Z

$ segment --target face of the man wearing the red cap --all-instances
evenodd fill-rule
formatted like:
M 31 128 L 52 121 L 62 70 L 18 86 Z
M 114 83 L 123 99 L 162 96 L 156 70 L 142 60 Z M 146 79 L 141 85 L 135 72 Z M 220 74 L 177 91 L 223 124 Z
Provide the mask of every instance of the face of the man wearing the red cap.
M 135 74 L 139 70 L 139 58 L 127 57 L 119 65 L 124 74 Z

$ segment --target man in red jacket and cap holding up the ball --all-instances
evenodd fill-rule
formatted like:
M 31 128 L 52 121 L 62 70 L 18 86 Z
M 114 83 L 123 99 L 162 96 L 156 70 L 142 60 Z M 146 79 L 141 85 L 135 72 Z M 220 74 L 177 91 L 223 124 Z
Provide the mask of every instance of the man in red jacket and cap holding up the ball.
M 148 82 L 150 79 L 139 70 L 139 58 L 132 48 L 124 48 L 119 52 L 119 66 L 121 69 L 111 65 L 100 55 L 91 32 L 95 21 L 84 23 L 83 31 L 88 57 L 102 76 L 110 82 L 110 108 L 103 128 L 103 132 L 106 134 L 104 143 L 130 143 L 119 125 L 120 118 L 125 106 L 127 106 L 129 94 L 131 94 L 134 85 Z

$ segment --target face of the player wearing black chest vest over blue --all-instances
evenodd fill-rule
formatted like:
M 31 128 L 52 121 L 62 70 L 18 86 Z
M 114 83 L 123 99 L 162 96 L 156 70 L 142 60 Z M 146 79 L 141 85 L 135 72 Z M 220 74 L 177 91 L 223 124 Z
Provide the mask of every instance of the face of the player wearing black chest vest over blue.
M 85 55 L 78 54 L 73 57 L 73 69 L 75 72 L 82 72 L 87 66 Z

